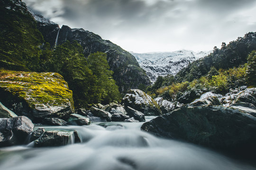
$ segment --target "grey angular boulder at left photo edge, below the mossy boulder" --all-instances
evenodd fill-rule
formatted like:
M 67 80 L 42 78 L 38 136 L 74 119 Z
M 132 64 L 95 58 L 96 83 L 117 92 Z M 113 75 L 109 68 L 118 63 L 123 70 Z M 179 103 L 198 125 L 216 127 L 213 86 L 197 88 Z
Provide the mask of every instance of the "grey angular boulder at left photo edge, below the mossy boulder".
M 23 144 L 34 124 L 26 116 L 0 119 L 0 146 Z

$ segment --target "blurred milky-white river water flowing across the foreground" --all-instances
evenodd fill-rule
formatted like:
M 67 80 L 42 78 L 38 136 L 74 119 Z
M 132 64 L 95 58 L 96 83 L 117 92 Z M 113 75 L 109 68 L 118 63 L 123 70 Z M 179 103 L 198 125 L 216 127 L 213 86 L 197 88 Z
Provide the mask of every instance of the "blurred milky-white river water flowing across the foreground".
M 255 170 L 192 144 L 152 136 L 140 131 L 141 125 L 107 122 L 45 127 L 75 129 L 82 143 L 1 148 L 0 170 Z

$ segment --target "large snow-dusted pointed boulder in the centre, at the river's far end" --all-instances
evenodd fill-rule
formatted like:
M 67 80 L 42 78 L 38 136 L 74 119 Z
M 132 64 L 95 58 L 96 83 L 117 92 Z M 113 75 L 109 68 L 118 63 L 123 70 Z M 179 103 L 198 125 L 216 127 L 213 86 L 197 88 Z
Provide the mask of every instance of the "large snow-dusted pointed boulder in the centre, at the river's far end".
M 122 99 L 125 107 L 131 107 L 141 111 L 146 116 L 162 115 L 158 104 L 145 92 L 139 89 L 131 89 Z

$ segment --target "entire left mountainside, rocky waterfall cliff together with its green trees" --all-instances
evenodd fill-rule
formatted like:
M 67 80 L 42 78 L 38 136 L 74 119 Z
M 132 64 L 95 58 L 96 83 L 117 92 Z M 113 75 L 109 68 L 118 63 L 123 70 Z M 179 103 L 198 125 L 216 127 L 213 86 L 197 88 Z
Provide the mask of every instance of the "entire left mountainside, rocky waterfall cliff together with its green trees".
M 59 28 L 21 0 L 1 1 L 0 21 L 0 68 L 61 74 L 75 107 L 119 101 L 119 90 L 150 83 L 127 51 L 89 31 Z

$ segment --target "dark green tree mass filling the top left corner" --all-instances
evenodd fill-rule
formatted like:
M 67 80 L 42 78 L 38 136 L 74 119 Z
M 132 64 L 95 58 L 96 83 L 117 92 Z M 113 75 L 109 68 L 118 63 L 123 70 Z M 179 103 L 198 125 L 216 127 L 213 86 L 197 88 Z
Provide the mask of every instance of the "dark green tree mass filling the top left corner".
M 35 71 L 44 40 L 21 0 L 0 1 L 0 30 L 0 67 Z

